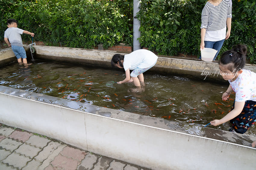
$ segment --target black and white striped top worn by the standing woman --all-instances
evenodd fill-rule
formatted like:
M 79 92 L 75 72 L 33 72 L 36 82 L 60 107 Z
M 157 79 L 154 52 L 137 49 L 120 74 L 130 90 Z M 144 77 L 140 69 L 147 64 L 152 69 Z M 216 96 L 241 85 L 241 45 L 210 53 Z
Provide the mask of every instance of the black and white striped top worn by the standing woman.
M 206 31 L 226 28 L 227 18 L 232 18 L 232 0 L 222 0 L 219 5 L 206 2 L 201 15 L 201 27 Z

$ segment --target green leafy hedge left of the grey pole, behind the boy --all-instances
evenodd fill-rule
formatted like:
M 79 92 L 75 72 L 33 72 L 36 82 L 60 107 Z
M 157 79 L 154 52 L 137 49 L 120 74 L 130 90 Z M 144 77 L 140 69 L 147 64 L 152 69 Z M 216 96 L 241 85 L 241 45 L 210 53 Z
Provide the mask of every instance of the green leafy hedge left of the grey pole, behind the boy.
M 6 20 L 14 18 L 18 27 L 35 33 L 34 40 L 68 47 L 105 48 L 126 43 L 133 45 L 131 0 L 3 0 L 1 37 Z M 30 36 L 22 36 L 31 41 Z

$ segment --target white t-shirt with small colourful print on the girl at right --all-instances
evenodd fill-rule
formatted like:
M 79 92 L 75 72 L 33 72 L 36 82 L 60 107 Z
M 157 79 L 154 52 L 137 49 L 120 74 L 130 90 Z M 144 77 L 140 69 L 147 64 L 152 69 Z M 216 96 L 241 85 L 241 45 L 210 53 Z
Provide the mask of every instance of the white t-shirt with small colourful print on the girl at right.
M 256 101 L 256 73 L 242 69 L 235 81 L 230 82 L 233 91 L 236 93 L 236 101 Z

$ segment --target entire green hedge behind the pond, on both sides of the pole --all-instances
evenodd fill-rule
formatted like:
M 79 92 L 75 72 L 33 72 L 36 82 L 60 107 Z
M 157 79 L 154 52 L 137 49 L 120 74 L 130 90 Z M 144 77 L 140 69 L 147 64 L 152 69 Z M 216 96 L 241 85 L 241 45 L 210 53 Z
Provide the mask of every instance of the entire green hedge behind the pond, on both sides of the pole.
M 142 47 L 162 55 L 199 55 L 201 11 L 206 0 L 142 0 L 137 14 L 141 22 Z M 0 36 L 6 20 L 35 33 L 34 40 L 47 45 L 60 42 L 68 47 L 105 48 L 126 43 L 133 46 L 132 0 L 2 0 Z M 256 64 L 256 4 L 233 0 L 231 35 L 220 54 L 233 45 L 248 47 L 248 58 Z M 23 35 L 23 40 L 30 36 Z

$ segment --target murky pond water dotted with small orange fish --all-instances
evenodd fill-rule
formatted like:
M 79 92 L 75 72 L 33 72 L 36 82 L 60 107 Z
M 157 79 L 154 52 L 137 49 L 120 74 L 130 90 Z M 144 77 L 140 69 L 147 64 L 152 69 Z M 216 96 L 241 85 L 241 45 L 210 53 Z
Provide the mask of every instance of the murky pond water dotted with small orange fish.
M 229 112 L 235 95 L 222 101 L 228 84 L 190 76 L 145 73 L 145 91 L 131 92 L 133 83 L 108 85 L 125 78 L 122 70 L 36 60 L 28 68 L 17 63 L 0 68 L 0 85 L 66 100 L 151 117 L 205 126 Z M 229 122 L 208 127 L 228 130 Z M 255 136 L 254 127 L 247 135 Z

